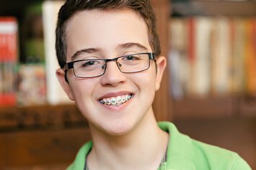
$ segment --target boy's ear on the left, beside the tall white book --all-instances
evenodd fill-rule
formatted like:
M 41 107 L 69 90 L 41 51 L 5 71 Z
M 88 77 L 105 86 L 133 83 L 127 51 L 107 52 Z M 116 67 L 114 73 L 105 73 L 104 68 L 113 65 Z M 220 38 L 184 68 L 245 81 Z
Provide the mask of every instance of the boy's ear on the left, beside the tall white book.
M 58 78 L 58 82 L 60 82 L 63 90 L 66 92 L 66 95 L 69 96 L 70 100 L 74 100 L 74 96 L 69 87 L 69 83 L 66 82 L 66 80 L 65 80 L 65 71 L 63 69 L 59 68 L 58 70 L 56 70 L 56 76 Z

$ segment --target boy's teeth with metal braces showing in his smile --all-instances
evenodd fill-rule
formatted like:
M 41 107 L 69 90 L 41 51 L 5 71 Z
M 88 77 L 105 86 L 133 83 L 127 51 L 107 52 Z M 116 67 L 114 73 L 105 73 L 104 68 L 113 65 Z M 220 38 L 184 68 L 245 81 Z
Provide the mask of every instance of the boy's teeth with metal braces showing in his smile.
M 118 106 L 122 105 L 123 103 L 128 102 L 128 100 L 131 100 L 133 98 L 133 94 L 130 95 L 118 95 L 115 98 L 103 98 L 100 100 L 100 103 L 103 105 L 113 105 L 113 106 Z

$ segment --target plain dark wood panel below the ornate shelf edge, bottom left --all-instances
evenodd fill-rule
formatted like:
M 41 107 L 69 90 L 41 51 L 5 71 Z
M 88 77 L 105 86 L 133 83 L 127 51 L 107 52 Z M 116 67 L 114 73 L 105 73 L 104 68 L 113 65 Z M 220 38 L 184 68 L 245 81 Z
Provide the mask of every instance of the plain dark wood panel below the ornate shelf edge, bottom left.
M 86 127 L 0 133 L 0 169 L 70 164 L 90 138 Z

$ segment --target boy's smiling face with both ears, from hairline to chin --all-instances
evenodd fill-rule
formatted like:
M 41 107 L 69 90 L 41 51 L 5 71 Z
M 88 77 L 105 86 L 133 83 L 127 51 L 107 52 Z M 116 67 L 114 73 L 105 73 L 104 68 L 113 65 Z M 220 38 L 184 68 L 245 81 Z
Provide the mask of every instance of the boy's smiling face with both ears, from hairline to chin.
M 81 11 L 75 14 L 66 27 L 67 60 L 87 58 L 110 59 L 140 52 L 152 52 L 147 27 L 143 19 L 128 9 L 109 11 Z M 71 56 L 81 49 L 82 55 Z M 77 78 L 72 69 L 57 70 L 63 89 L 76 102 L 91 128 L 111 135 L 122 135 L 144 121 L 146 114 L 153 114 L 151 104 L 159 89 L 166 65 L 164 57 L 150 62 L 148 70 L 125 74 L 118 70 L 116 62 L 107 62 L 104 75 L 93 78 Z M 100 100 L 132 97 L 121 105 L 105 105 Z M 124 99 L 125 100 L 125 99 Z

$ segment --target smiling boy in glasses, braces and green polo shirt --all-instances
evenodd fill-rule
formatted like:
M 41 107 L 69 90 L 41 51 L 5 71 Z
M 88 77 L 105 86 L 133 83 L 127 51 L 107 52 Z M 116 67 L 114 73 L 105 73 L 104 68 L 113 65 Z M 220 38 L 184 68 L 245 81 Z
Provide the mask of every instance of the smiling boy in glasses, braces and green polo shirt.
M 87 118 L 92 141 L 68 169 L 237 169 L 237 154 L 156 123 L 167 64 L 148 0 L 68 0 L 58 15 L 59 82 Z

